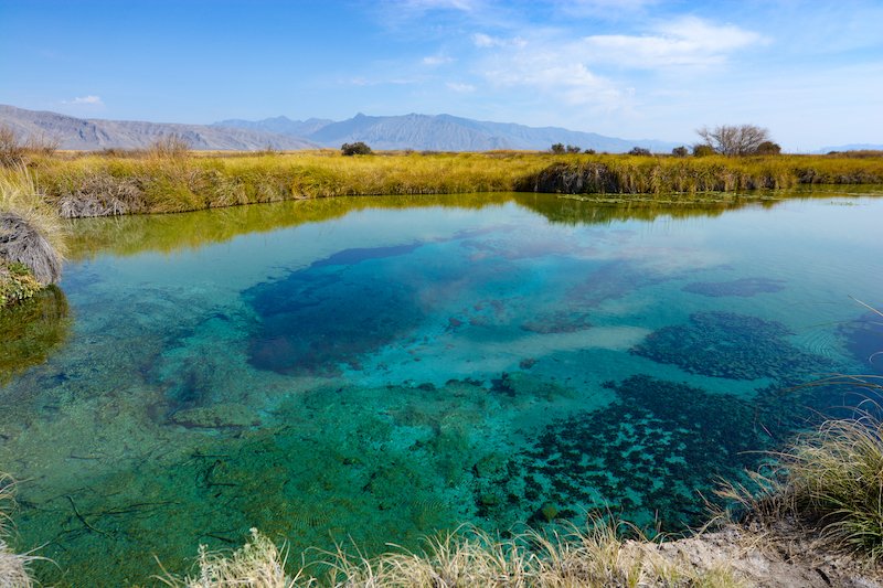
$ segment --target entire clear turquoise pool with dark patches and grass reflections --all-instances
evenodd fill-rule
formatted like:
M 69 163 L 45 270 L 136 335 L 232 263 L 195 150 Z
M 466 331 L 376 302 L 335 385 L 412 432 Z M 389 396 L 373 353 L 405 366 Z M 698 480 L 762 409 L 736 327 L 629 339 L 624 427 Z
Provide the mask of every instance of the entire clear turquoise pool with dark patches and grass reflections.
M 851 189 L 855 192 L 855 189 Z M 869 191 L 873 193 L 873 191 Z M 0 471 L 60 585 L 150 582 L 249 527 L 416 547 L 609 509 L 683 530 L 859 400 L 883 199 L 712 210 L 337 199 L 83 221 L 0 363 Z M 12 323 L 3 325 L 12 332 Z M 545 510 L 551 512 L 550 509 Z

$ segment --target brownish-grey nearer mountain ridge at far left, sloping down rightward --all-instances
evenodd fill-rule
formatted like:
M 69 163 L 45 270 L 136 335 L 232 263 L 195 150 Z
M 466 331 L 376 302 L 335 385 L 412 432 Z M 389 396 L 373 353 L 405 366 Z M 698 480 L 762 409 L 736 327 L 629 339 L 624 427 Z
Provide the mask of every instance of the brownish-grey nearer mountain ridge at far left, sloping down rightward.
M 315 149 L 318 145 L 292 137 L 245 128 L 209 125 L 180 125 L 136 120 L 84 119 L 57 113 L 26 110 L 0 105 L 0 125 L 19 137 L 44 137 L 58 141 L 61 149 L 93 151 L 97 149 L 143 149 L 157 139 L 177 135 L 193 149 L 241 150 Z

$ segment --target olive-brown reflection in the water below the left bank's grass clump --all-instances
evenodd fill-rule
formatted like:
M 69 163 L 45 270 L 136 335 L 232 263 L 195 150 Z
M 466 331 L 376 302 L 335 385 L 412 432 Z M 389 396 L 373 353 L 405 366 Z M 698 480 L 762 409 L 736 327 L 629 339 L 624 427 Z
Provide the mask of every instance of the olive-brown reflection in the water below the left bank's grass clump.
M 0 311 L 0 385 L 43 363 L 64 343 L 71 329 L 67 314 L 67 299 L 55 286 Z

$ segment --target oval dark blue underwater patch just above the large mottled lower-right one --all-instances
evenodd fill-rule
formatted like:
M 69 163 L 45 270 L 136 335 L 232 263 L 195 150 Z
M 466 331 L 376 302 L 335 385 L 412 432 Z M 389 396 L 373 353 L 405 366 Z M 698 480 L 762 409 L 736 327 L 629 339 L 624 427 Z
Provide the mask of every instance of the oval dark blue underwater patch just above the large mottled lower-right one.
M 786 336 L 784 324 L 735 312 L 696 312 L 688 324 L 663 327 L 631 353 L 682 370 L 731 379 L 772 377 L 799 383 L 800 376 L 830 368 L 823 357 L 806 353 Z

